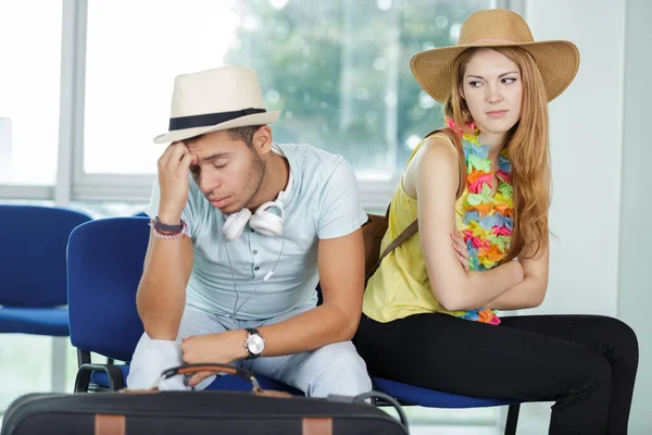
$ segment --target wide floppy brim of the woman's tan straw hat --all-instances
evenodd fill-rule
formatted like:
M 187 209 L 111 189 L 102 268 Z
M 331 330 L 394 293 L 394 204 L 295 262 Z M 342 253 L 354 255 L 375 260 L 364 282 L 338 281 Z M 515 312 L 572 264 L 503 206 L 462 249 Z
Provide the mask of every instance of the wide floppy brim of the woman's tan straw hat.
M 543 78 L 548 101 L 554 100 L 570 85 L 579 69 L 579 50 L 569 41 L 486 42 L 442 47 L 416 53 L 410 70 L 421 87 L 443 103 L 453 87 L 455 59 L 469 48 L 521 47 L 528 51 Z

